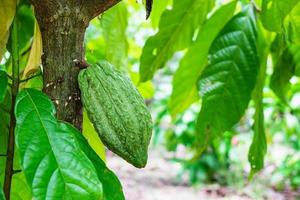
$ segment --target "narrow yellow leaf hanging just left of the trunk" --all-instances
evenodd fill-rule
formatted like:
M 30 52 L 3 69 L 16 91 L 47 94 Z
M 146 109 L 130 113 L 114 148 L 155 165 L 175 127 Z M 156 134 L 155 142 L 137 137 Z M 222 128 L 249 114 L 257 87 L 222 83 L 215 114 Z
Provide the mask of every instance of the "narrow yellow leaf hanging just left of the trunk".
M 34 25 L 34 35 L 33 35 L 33 42 L 28 58 L 27 65 L 23 72 L 23 78 L 29 77 L 30 75 L 36 73 L 40 69 L 40 65 L 42 63 L 42 36 L 39 25 L 37 21 Z

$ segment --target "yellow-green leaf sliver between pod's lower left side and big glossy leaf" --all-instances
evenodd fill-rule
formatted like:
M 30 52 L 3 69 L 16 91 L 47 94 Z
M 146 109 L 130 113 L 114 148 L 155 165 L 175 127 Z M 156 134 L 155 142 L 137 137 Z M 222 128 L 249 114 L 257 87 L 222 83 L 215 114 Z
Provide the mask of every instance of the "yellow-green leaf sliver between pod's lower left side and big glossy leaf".
M 83 111 L 82 135 L 85 137 L 97 155 L 102 160 L 105 160 L 105 147 L 95 131 L 93 124 L 89 120 L 86 110 Z

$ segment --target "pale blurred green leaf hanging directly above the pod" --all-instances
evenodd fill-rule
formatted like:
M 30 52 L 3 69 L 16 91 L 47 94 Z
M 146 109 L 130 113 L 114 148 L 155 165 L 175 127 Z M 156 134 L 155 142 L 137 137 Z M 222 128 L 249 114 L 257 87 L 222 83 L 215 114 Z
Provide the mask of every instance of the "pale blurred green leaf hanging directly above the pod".
M 106 60 L 119 70 L 127 72 L 128 41 L 126 29 L 128 25 L 127 8 L 121 2 L 109 9 L 100 19 L 106 43 Z

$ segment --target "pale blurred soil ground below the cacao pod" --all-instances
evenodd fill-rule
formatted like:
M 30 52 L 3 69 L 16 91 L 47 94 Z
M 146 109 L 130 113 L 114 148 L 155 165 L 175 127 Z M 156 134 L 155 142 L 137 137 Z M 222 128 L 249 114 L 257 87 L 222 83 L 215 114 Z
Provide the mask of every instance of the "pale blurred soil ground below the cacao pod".
M 279 193 L 272 188 L 261 187 L 263 194 L 257 197 L 251 184 L 242 189 L 205 185 L 192 187 L 187 181 L 176 181 L 180 166 L 169 162 L 165 152 L 151 150 L 145 169 L 136 169 L 119 157 L 108 153 L 107 164 L 117 174 L 123 185 L 126 200 L 292 200 L 290 192 Z

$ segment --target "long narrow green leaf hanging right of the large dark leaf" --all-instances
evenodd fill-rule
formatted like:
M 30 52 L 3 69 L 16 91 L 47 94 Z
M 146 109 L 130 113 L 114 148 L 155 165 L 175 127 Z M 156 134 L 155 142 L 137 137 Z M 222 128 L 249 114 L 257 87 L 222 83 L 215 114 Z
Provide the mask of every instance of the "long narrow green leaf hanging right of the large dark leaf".
M 252 179 L 252 177 L 264 167 L 264 157 L 267 152 L 267 141 L 264 128 L 263 94 L 270 50 L 270 44 L 267 42 L 269 41 L 268 39 L 270 35 L 264 35 L 262 28 L 258 30 L 258 49 L 261 63 L 256 87 L 252 97 L 254 101 L 255 114 L 253 125 L 254 136 L 248 153 L 248 160 L 251 168 L 249 179 Z

